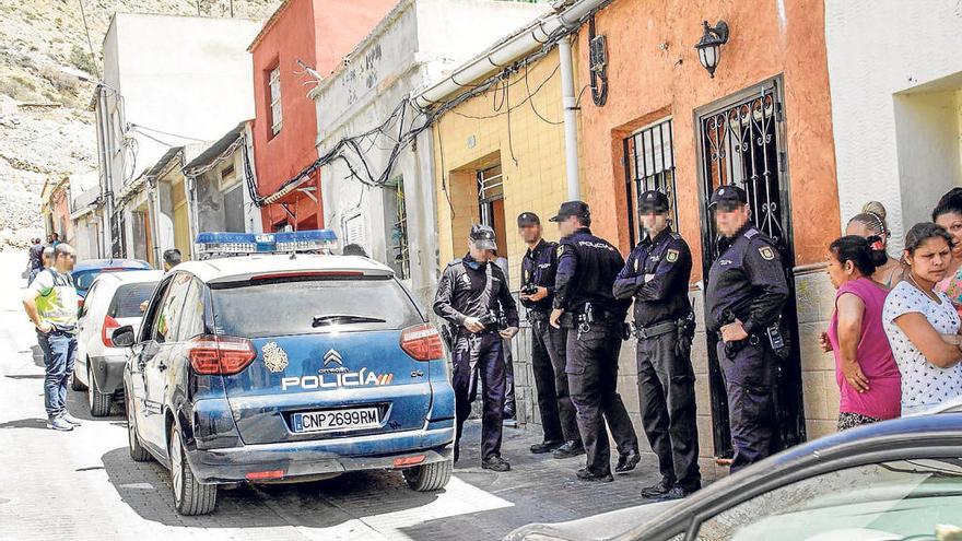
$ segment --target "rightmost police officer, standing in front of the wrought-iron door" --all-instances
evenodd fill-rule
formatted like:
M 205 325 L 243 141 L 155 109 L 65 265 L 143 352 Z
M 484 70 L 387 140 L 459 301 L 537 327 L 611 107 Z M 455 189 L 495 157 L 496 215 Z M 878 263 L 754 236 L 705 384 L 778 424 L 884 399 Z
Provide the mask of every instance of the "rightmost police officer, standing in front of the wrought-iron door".
M 732 472 L 778 450 L 777 358 L 769 329 L 777 329 L 788 298 L 778 250 L 749 222 L 747 202 L 741 188 L 722 186 L 709 203 L 723 238 L 708 271 L 705 321 L 722 334 L 718 362 L 728 392 Z

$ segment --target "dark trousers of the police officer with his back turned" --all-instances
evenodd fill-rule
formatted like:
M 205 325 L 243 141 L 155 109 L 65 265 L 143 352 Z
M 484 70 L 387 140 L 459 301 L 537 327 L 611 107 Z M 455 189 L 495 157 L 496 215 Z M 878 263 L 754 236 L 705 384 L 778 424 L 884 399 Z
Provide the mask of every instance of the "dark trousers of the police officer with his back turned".
M 567 366 L 572 402 L 577 410 L 578 431 L 585 444 L 588 471 L 611 473 L 608 430 L 619 454 L 637 452 L 638 438 L 618 393 L 618 354 L 621 352 L 621 324 L 591 324 L 587 332 L 567 333 Z

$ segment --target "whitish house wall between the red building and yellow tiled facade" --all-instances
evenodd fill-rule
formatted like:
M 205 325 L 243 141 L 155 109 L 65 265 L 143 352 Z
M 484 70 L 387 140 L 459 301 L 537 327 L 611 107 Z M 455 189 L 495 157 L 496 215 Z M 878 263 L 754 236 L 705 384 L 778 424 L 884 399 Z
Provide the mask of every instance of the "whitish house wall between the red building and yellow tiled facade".
M 408 0 L 401 2 L 350 55 L 350 64 L 322 82 L 316 94 L 318 152 L 344 137 L 380 125 L 412 91 L 481 52 L 500 37 L 548 10 L 544 4 L 493 0 Z M 404 124 L 415 113 L 409 107 Z M 423 118 L 419 119 L 423 121 Z M 395 127 L 397 130 L 397 126 Z M 386 167 L 390 140 L 362 145 L 375 175 Z M 433 142 L 430 130 L 415 148 L 401 151 L 388 178 L 403 176 L 411 277 L 409 286 L 430 304 L 437 279 Z M 353 163 L 357 168 L 359 163 Z M 325 223 L 345 239 L 345 221 L 361 214 L 368 255 L 387 262 L 385 196 L 349 178 L 341 161 L 321 169 Z M 347 239 L 345 239 L 347 240 Z

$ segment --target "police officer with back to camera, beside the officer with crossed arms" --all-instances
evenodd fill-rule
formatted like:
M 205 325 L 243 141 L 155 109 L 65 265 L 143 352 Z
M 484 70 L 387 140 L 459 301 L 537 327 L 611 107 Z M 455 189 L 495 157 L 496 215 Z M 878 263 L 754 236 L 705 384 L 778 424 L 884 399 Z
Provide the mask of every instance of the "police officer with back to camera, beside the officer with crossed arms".
M 558 215 L 562 234 L 550 322 L 568 328 L 565 372 L 578 431 L 587 452 L 584 481 L 613 481 L 608 431 L 618 445 L 617 472 L 637 466 L 638 439 L 618 393 L 618 354 L 629 303 L 614 298 L 614 277 L 624 266 L 618 249 L 591 234 L 591 214 L 582 201 L 562 203 Z

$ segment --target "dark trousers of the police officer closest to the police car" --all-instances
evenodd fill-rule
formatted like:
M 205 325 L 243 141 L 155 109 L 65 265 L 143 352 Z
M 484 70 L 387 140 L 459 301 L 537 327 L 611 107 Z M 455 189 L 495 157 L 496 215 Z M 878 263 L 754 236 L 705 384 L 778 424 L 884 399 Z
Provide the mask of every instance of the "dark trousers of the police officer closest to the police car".
M 502 423 L 504 422 L 505 367 L 503 341 L 497 332 L 480 334 L 460 332 L 455 340 L 453 357 L 455 388 L 455 415 L 457 434 L 455 447 L 459 448 L 465 421 L 471 414 L 471 402 L 478 393 L 481 380 L 483 413 L 481 415 L 481 459 L 501 455 Z

